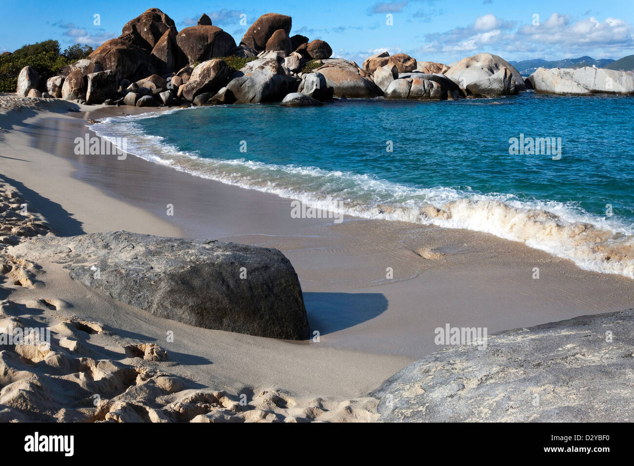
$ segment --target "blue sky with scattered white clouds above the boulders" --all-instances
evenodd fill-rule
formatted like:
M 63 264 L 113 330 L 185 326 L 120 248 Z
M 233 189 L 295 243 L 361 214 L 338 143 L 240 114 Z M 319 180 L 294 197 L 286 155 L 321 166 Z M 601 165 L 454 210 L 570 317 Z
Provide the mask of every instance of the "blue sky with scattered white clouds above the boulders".
M 323 39 L 333 56 L 359 64 L 384 50 L 442 63 L 485 51 L 507 60 L 634 54 L 633 0 L 1 0 L 0 52 L 46 39 L 57 39 L 63 48 L 77 42 L 96 46 L 152 7 L 171 16 L 178 30 L 207 13 L 236 43 L 247 29 L 241 14 L 250 25 L 263 13 L 283 13 L 293 18 L 291 35 Z M 93 24 L 95 14 L 100 25 Z

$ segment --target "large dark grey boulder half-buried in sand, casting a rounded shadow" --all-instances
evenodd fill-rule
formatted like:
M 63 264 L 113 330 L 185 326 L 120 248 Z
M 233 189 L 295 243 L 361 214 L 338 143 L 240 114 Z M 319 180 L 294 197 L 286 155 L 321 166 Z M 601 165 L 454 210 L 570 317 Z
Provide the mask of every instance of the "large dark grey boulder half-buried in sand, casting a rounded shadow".
M 259 337 L 309 338 L 297 274 L 276 249 L 117 231 L 38 238 L 8 252 L 64 264 L 74 280 L 156 316 Z

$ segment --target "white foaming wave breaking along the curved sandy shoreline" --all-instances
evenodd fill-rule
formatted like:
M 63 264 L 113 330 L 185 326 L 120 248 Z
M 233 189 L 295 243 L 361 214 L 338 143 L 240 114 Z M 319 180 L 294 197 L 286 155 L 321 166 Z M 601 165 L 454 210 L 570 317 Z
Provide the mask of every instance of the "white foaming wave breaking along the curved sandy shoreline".
M 132 155 L 201 178 L 301 200 L 317 209 L 335 205 L 338 214 L 491 233 L 570 259 L 582 269 L 634 278 L 634 225 L 619 217 L 594 216 L 572 202 L 520 200 L 469 188 L 412 188 L 372 174 L 207 158 L 146 134 L 137 123 L 160 113 L 110 117 L 90 129 L 110 141 L 125 136 Z

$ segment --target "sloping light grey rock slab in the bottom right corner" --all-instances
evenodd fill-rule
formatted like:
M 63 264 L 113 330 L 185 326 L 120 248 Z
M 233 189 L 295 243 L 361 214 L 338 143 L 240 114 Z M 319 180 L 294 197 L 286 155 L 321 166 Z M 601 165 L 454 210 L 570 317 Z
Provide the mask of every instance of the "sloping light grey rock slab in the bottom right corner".
M 484 350 L 441 349 L 370 396 L 386 422 L 631 422 L 633 384 L 629 309 L 496 333 Z

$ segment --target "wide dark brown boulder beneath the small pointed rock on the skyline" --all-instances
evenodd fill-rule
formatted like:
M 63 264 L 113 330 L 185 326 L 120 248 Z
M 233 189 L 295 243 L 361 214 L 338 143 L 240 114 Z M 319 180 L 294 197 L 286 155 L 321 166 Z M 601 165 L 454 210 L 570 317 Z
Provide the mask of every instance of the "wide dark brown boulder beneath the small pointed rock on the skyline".
M 190 64 L 229 55 L 236 46 L 230 34 L 216 26 L 191 26 L 181 30 L 176 43 Z

